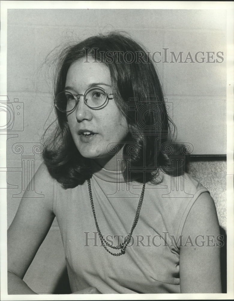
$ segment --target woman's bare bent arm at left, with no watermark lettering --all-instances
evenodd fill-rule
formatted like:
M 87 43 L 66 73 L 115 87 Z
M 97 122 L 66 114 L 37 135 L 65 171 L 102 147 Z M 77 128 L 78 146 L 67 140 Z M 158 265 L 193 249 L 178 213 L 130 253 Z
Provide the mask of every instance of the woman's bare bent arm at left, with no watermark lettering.
M 35 294 L 22 279 L 54 219 L 53 180 L 44 164 L 35 183 L 44 198 L 27 198 L 26 191 L 7 231 L 8 294 Z

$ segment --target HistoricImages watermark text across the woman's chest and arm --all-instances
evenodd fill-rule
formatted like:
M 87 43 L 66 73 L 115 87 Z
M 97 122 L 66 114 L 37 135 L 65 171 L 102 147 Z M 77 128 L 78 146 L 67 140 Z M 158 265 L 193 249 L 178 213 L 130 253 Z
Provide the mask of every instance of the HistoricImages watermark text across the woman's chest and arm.
M 169 232 L 162 232 L 163 235 L 132 235 L 128 247 L 223 247 L 223 235 L 196 235 L 185 237 L 179 235 L 175 237 Z M 107 235 L 104 237 L 112 247 L 125 242 L 129 234 L 124 235 Z M 104 242 L 103 242 L 104 243 Z M 84 247 L 102 247 L 98 232 L 84 232 Z

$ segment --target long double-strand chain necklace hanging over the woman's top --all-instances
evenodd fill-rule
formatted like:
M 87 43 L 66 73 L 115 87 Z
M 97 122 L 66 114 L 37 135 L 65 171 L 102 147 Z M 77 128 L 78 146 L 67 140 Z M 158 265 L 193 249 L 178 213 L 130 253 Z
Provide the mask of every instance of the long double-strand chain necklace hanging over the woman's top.
M 95 225 L 96 225 L 96 228 L 97 228 L 97 231 L 98 231 L 98 235 L 100 237 L 100 240 L 101 240 L 101 244 L 102 246 L 105 248 L 105 250 L 107 250 L 108 253 L 110 253 L 111 255 L 113 256 L 120 256 L 122 254 L 125 254 L 125 249 L 126 247 L 128 246 L 130 240 L 131 240 L 131 237 L 132 237 L 132 233 L 133 233 L 133 230 L 134 228 L 136 227 L 137 225 L 137 222 L 138 222 L 138 219 L 139 219 L 139 214 L 140 214 L 140 210 L 141 210 L 141 205 L 142 205 L 142 202 L 143 202 L 143 198 L 144 198 L 144 192 L 145 192 L 145 185 L 146 183 L 143 184 L 143 187 L 142 187 L 142 191 L 141 191 L 141 195 L 140 195 L 140 200 L 139 200 L 139 203 L 138 203 L 138 206 L 137 206 L 137 212 L 136 212 L 136 215 L 135 215 L 135 218 L 134 218 L 134 221 L 133 221 L 133 225 L 132 225 L 132 228 L 131 228 L 131 231 L 130 233 L 126 236 L 125 240 L 123 243 L 119 244 L 118 246 L 112 246 L 111 244 L 109 244 L 105 238 L 103 237 L 103 235 L 101 234 L 101 231 L 98 227 L 98 222 L 97 222 L 97 218 L 96 218 L 96 214 L 95 214 L 95 209 L 94 209 L 94 204 L 93 204 L 93 196 L 92 196 L 92 191 L 91 191 L 91 183 L 90 183 L 90 179 L 88 179 L 88 192 L 89 192 L 89 198 L 90 198 L 90 202 L 91 202 L 91 207 L 92 207 L 92 211 L 93 211 L 93 216 L 94 216 L 94 221 L 95 221 Z M 106 245 L 112 249 L 116 249 L 116 250 L 119 250 L 121 249 L 121 252 L 119 253 L 113 253 L 111 251 L 109 251 L 106 247 Z

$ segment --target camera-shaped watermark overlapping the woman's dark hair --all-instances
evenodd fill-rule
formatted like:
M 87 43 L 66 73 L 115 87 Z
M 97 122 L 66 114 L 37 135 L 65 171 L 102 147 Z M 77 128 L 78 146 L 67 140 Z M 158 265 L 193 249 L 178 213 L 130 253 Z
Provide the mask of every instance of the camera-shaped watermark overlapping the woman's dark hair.
M 173 102 L 167 98 L 159 101 L 157 95 L 143 95 L 139 98 L 129 98 L 125 105 L 127 116 L 126 131 L 137 134 L 139 131 L 145 134 L 155 134 L 155 132 L 167 133 L 165 127 L 167 120 L 173 122 Z M 128 121 L 132 120 L 136 124 L 134 128 L 129 127 Z M 172 129 L 169 129 L 172 131 Z

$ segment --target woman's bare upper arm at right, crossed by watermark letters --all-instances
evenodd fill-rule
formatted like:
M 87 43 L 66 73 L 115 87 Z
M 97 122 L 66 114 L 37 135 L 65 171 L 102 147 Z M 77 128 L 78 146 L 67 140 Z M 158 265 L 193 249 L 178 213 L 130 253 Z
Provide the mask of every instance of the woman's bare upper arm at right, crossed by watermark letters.
M 181 293 L 221 293 L 220 247 L 217 246 L 219 224 L 214 201 L 208 192 L 202 193 L 193 204 L 182 235 Z M 186 244 L 188 236 L 191 237 L 194 246 Z

